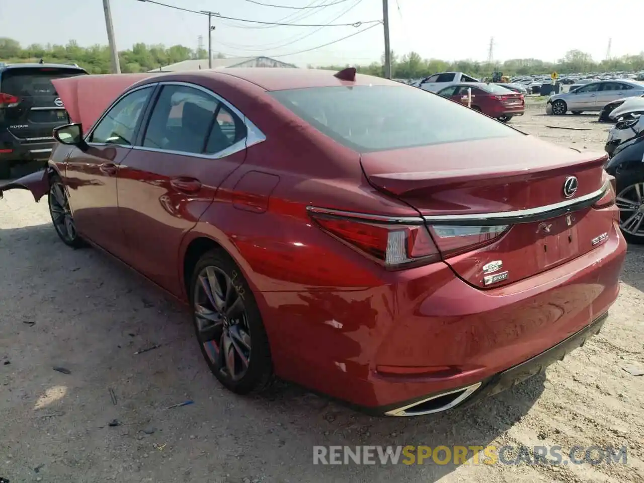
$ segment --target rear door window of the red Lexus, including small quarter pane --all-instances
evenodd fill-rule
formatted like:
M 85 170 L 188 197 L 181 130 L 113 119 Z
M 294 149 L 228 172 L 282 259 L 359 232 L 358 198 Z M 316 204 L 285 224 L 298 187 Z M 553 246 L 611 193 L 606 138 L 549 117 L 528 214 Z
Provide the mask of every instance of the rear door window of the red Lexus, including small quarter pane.
M 152 111 L 143 146 L 217 153 L 243 139 L 244 129 L 243 122 L 213 95 L 189 86 L 167 85 Z

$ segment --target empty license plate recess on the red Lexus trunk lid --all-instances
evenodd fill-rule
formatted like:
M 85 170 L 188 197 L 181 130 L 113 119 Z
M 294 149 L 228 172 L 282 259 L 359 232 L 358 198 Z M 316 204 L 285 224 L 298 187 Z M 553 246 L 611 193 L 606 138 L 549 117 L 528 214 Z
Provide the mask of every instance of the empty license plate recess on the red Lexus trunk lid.
M 548 269 L 580 253 L 575 214 L 538 223 L 536 258 L 540 269 Z

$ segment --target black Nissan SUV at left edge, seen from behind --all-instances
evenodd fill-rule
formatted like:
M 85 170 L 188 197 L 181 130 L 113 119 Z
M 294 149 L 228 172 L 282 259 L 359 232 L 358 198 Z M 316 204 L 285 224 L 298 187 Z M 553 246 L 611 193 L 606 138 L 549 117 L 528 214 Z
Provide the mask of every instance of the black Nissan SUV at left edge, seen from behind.
M 52 129 L 70 122 L 51 81 L 86 74 L 68 64 L 0 64 L 0 179 L 15 164 L 49 158 Z

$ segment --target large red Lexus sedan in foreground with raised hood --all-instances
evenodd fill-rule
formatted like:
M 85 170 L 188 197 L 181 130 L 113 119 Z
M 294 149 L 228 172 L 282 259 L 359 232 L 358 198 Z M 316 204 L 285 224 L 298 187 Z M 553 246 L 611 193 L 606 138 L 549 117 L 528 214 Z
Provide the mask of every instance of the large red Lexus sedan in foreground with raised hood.
M 351 69 L 54 82 L 74 124 L 0 191 L 185 301 L 234 392 L 440 412 L 562 359 L 618 295 L 603 154 Z

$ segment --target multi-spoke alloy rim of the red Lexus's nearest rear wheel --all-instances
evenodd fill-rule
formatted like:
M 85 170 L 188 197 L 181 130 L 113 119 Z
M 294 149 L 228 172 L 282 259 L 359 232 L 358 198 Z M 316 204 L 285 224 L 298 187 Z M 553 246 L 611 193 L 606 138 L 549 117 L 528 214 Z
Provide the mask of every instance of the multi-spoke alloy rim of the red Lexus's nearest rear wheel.
M 193 303 L 199 343 L 220 375 L 239 381 L 251 361 L 243 289 L 222 269 L 205 267 L 196 278 Z

